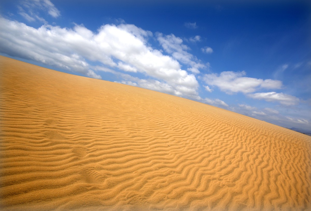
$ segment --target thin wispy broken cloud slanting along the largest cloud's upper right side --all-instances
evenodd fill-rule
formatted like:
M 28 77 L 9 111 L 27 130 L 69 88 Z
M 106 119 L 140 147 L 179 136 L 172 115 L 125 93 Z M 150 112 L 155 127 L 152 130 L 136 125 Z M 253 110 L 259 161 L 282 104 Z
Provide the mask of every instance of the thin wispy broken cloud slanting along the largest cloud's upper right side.
M 157 39 L 163 49 L 171 54 L 174 59 L 184 63 L 188 66 L 188 71 L 193 73 L 200 73 L 199 69 L 206 68 L 206 65 L 202 64 L 194 55 L 187 52 L 190 48 L 183 44 L 183 40 L 175 35 L 163 35 L 162 33 L 157 33 Z

